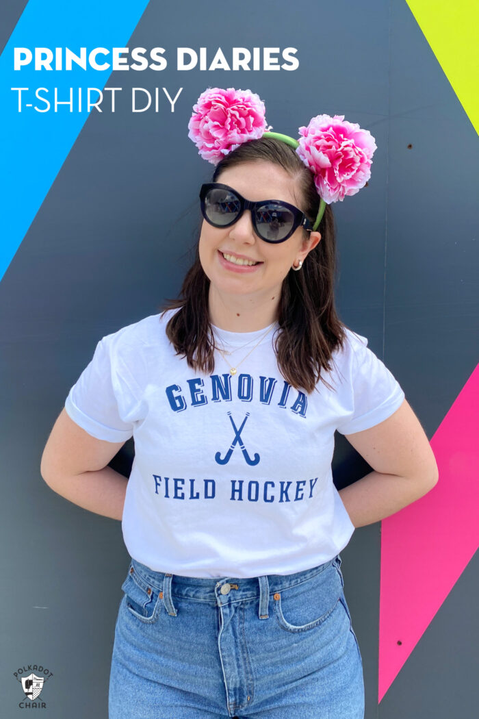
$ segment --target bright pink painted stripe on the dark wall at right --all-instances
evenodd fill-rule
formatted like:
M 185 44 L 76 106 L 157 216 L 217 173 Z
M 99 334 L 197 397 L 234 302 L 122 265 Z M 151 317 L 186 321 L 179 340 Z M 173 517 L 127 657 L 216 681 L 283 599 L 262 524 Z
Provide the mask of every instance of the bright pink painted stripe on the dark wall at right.
M 378 702 L 478 549 L 478 420 L 479 365 L 432 437 L 437 485 L 381 523 Z

